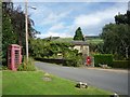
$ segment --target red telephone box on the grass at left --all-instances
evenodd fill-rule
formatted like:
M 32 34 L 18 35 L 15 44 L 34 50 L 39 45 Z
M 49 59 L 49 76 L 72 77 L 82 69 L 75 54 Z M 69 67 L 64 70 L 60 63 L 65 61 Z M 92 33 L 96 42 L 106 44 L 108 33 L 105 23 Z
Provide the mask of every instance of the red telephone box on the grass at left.
M 17 44 L 11 44 L 8 47 L 8 68 L 16 71 L 22 64 L 22 47 Z

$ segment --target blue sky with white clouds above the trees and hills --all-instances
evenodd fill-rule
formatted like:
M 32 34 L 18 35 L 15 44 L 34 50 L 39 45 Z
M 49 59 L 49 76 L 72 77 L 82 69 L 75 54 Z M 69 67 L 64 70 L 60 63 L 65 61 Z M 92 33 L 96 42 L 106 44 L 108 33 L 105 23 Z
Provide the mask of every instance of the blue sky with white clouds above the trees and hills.
M 22 6 L 24 2 L 14 2 L 14 6 Z M 30 9 L 36 6 L 37 10 Z M 35 29 L 40 31 L 37 38 L 74 37 L 78 27 L 84 36 L 99 36 L 102 28 L 114 23 L 114 16 L 120 12 L 125 14 L 128 2 L 28 2 L 28 14 L 35 22 Z

